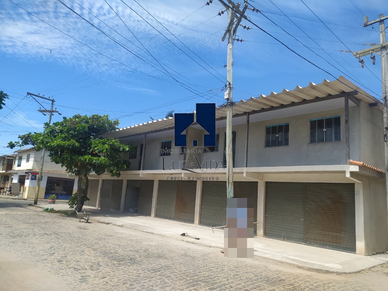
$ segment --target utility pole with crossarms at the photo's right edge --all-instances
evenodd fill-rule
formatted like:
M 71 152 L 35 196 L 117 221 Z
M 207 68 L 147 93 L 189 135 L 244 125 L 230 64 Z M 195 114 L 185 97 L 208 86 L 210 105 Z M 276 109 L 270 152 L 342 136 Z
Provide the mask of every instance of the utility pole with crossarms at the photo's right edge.
M 387 207 L 388 207 L 388 104 L 387 104 L 387 95 L 388 95 L 388 61 L 387 61 L 387 48 L 388 43 L 386 41 L 385 34 L 385 24 L 384 20 L 388 19 L 388 16 L 384 16 L 384 14 L 380 14 L 378 19 L 373 21 L 369 21 L 368 17 L 364 17 L 364 27 L 369 26 L 374 23 L 379 23 L 380 27 L 380 45 L 376 45 L 375 47 L 371 47 L 369 49 L 360 50 L 359 52 L 353 52 L 355 57 L 359 59 L 361 64 L 364 63 L 364 60 L 360 59 L 364 55 L 371 55 L 371 59 L 373 64 L 375 64 L 375 54 L 379 54 L 381 56 L 381 82 L 383 83 L 383 123 L 384 123 L 384 152 L 385 152 L 385 184 L 387 191 Z M 380 52 L 380 53 L 379 53 Z

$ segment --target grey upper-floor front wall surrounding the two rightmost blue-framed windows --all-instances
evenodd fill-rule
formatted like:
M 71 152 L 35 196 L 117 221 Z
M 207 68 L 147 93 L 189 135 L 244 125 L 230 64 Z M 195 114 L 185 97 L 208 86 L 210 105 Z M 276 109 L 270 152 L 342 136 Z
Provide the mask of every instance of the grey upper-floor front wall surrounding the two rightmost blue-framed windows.
M 345 164 L 345 110 L 254 122 L 249 128 L 248 166 L 301 166 Z M 341 115 L 341 141 L 310 144 L 310 119 Z M 265 147 L 265 126 L 289 123 L 289 145 Z

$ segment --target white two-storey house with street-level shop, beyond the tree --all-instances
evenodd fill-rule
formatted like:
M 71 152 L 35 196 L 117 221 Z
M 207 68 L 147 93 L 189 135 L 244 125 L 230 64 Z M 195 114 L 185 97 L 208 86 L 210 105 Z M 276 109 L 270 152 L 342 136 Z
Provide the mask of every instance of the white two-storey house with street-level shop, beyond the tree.
M 9 173 L 11 181 L 19 183 L 20 197 L 34 198 L 37 177 L 40 170 L 42 151 L 35 148 L 22 149 L 15 152 L 15 163 Z M 55 194 L 57 199 L 69 199 L 77 189 L 77 179 L 68 175 L 65 168 L 50 161 L 46 152 L 43 162 L 42 182 L 40 183 L 39 199 Z M 14 187 L 12 187 L 13 189 Z

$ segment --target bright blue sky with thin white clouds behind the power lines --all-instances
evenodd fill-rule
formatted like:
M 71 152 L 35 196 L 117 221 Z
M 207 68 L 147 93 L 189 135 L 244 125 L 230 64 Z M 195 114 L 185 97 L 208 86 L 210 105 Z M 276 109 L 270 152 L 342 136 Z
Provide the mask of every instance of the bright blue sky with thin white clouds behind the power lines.
M 224 102 L 227 42 L 221 38 L 228 16 L 217 15 L 223 9 L 217 0 L 62 0 L 94 26 L 56 0 L 0 1 L 0 90 L 10 96 L 0 111 L 0 154 L 12 152 L 6 145 L 17 135 L 41 131 L 47 121 L 27 92 L 54 97 L 62 116 L 109 114 L 120 127 L 170 110 L 191 112 L 197 102 Z M 246 15 L 320 68 L 381 98 L 380 57 L 372 66 L 365 56 L 362 69 L 340 50 L 379 42 L 378 25 L 362 24 L 364 14 L 369 20 L 388 14 L 381 10 L 386 0 L 304 0 L 333 32 L 301 0 L 271 1 L 249 1 L 263 12 Z M 244 42 L 234 44 L 234 100 L 334 80 L 248 21 L 242 24 L 253 29 L 237 31 Z

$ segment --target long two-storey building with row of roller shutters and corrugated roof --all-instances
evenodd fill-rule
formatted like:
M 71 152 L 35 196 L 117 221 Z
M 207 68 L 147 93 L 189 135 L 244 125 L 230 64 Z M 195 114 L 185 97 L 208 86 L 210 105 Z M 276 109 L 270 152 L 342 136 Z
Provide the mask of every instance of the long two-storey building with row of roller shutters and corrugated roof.
M 234 196 L 252 199 L 256 236 L 360 255 L 388 250 L 381 102 L 340 77 L 241 100 L 233 114 Z M 90 175 L 100 180 L 89 205 L 108 188 L 111 210 L 225 225 L 225 119 L 218 107 L 217 143 L 201 151 L 196 124 L 187 146 L 174 146 L 174 118 L 107 133 L 137 150 L 120 178 Z

